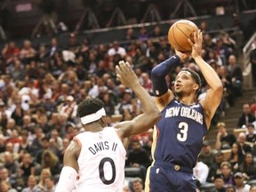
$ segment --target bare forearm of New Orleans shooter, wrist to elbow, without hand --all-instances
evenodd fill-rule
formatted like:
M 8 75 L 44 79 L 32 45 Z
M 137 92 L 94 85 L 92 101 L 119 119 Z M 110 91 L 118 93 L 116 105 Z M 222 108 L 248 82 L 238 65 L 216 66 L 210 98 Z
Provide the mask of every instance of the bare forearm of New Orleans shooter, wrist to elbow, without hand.
M 216 74 L 214 69 L 208 63 L 206 63 L 200 56 L 194 58 L 194 60 L 196 61 L 197 66 L 200 68 L 207 84 L 213 90 L 219 90 L 220 92 L 222 92 L 223 87 L 220 81 L 220 77 Z

